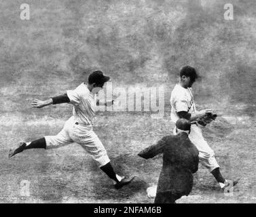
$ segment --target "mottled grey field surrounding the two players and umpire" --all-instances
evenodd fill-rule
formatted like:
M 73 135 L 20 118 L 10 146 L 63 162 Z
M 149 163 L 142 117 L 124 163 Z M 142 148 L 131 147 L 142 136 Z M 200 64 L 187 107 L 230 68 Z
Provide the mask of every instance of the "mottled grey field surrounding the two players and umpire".
M 204 136 L 223 174 L 240 184 L 223 195 L 200 165 L 191 195 L 177 202 L 255 203 L 255 0 L 230 0 L 234 20 L 223 19 L 224 0 L 27 0 L 27 21 L 20 20 L 22 3 L 0 3 L 0 203 L 153 202 L 146 189 L 158 182 L 162 158 L 146 161 L 137 153 L 172 132 L 170 90 L 187 64 L 202 75 L 198 109 L 219 115 Z M 71 90 L 96 69 L 115 87 L 165 87 L 161 119 L 100 112 L 95 121 L 115 170 L 136 175 L 134 182 L 113 189 L 78 144 L 7 159 L 20 140 L 54 135 L 71 115 L 71 105 L 32 109 L 31 100 Z

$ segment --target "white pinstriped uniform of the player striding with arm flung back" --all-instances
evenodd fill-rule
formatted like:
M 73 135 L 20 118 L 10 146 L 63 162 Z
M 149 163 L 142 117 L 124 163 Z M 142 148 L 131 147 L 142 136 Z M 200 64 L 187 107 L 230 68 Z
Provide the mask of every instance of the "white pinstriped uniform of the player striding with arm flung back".
M 45 136 L 47 148 L 76 142 L 100 167 L 106 165 L 110 161 L 107 151 L 92 128 L 96 106 L 94 94 L 88 90 L 86 83 L 81 83 L 75 90 L 67 90 L 67 96 L 69 103 L 73 104 L 73 116 L 56 136 Z

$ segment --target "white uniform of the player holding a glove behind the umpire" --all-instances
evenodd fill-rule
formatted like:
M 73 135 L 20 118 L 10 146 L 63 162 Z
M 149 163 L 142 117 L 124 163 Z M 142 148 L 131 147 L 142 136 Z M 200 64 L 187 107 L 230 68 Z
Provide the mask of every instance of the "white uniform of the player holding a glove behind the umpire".
M 196 104 L 191 87 L 184 88 L 179 84 L 175 85 L 170 96 L 170 105 L 172 106 L 170 118 L 175 123 L 179 119 L 178 113 L 180 111 L 186 111 L 190 114 L 196 112 Z M 176 134 L 176 127 L 173 133 Z M 215 153 L 202 136 L 202 130 L 198 126 L 198 123 L 191 124 L 189 139 L 197 147 L 200 161 L 210 172 L 219 167 L 215 159 Z

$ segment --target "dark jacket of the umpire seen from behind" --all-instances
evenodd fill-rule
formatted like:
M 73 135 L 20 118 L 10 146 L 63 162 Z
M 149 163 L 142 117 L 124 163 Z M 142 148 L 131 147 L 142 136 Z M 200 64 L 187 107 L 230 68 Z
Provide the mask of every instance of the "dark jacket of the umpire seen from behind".
M 157 193 L 170 192 L 189 195 L 193 186 L 193 175 L 198 171 L 198 149 L 185 132 L 176 136 L 165 136 L 157 144 L 149 146 L 138 155 L 145 159 L 164 153 L 163 165 L 158 180 Z

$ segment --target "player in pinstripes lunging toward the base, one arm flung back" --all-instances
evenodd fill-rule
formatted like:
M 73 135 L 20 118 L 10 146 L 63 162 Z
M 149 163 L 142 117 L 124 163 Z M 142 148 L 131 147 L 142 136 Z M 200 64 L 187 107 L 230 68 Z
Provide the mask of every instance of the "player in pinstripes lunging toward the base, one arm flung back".
M 20 146 L 15 150 L 10 150 L 9 157 L 14 157 L 26 149 L 46 149 L 76 142 L 80 144 L 89 155 L 98 163 L 99 167 L 111 180 L 115 189 L 132 182 L 133 178 L 127 179 L 124 176 L 115 174 L 105 147 L 94 133 L 92 125 L 95 116 L 94 95 L 109 81 L 109 77 L 103 75 L 101 71 L 95 71 L 88 77 L 88 83 L 81 83 L 75 90 L 67 90 L 66 94 L 50 98 L 49 100 L 33 100 L 32 106 L 42 108 L 50 104 L 71 103 L 73 104 L 73 116 L 70 117 L 63 129 L 56 136 L 44 136 L 33 142 L 20 142 Z M 106 102 L 106 105 L 112 105 Z

